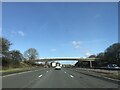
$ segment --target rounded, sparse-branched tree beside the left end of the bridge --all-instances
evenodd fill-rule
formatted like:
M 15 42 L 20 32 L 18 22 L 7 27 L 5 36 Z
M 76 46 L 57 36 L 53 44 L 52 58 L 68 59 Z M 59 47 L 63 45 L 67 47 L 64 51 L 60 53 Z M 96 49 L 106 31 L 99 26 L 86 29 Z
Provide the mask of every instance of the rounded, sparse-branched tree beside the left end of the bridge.
M 35 60 L 38 57 L 38 52 L 35 48 L 29 48 L 24 52 L 24 57 L 29 60 Z

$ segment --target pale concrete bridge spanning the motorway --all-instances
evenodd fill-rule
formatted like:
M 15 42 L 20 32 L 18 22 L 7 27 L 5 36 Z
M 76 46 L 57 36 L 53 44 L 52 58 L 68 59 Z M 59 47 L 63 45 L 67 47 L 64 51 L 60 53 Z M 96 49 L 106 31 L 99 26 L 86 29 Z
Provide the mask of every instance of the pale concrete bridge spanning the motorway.
M 37 62 L 48 62 L 48 61 L 88 61 L 90 62 L 90 67 L 92 67 L 92 62 L 97 60 L 99 58 L 80 58 L 80 57 L 53 57 L 53 58 L 39 58 L 39 59 L 36 59 L 35 61 Z

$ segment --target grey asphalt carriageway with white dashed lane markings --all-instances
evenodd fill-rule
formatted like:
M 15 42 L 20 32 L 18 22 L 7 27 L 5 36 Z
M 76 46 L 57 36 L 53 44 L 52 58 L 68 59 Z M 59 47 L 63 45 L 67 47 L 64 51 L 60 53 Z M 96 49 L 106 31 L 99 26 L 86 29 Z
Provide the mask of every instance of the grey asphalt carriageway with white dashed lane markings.
M 38 69 L 3 76 L 3 88 L 118 88 L 118 84 L 69 68 Z

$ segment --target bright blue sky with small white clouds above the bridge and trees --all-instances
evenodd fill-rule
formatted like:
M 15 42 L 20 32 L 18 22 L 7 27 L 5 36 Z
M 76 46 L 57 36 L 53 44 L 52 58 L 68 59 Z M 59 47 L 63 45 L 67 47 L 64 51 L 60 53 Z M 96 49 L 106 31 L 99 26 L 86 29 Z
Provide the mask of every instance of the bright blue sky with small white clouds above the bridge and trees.
M 3 3 L 3 36 L 39 57 L 86 57 L 118 42 L 117 3 Z

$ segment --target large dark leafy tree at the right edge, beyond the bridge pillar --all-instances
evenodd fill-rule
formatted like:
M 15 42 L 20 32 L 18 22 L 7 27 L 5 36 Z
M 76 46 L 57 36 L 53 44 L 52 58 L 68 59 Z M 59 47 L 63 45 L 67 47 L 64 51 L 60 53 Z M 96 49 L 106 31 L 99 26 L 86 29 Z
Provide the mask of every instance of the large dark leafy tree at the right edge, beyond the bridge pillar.
M 96 60 L 98 66 L 107 66 L 108 64 L 117 64 L 120 66 L 120 61 L 118 61 L 120 51 L 120 43 L 114 43 L 109 46 L 104 52 L 99 53 Z

